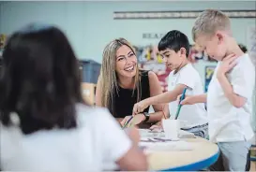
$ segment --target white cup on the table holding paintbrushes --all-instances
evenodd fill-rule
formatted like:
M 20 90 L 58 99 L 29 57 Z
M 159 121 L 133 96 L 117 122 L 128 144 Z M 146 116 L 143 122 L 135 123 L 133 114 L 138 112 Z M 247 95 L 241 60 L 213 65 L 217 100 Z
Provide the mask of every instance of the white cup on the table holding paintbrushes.
M 180 130 L 180 122 L 179 120 L 162 120 L 162 127 L 165 134 L 165 137 L 168 139 L 177 139 L 179 130 Z

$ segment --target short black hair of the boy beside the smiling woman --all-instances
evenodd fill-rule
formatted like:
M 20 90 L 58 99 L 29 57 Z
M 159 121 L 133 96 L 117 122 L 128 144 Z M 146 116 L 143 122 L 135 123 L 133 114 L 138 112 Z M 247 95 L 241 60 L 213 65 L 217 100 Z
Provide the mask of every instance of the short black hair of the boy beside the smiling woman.
M 179 51 L 181 48 L 186 49 L 186 56 L 189 54 L 189 41 L 188 36 L 180 31 L 173 30 L 163 36 L 158 43 L 158 50 L 174 50 Z

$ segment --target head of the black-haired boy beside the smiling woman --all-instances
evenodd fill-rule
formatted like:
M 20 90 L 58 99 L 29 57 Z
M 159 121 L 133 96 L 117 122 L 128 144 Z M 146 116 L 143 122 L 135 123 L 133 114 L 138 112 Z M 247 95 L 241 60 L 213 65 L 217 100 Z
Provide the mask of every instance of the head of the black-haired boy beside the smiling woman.
M 183 62 L 187 61 L 189 54 L 188 36 L 180 31 L 170 31 L 163 36 L 158 43 L 158 50 L 171 70 L 179 68 Z

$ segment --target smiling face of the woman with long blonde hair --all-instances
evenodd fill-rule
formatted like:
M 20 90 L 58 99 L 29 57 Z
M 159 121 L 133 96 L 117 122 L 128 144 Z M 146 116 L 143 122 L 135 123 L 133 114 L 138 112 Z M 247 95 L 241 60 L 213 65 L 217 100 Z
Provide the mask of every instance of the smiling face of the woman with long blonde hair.
M 119 77 L 132 78 L 136 75 L 137 57 L 126 45 L 116 51 L 115 72 Z

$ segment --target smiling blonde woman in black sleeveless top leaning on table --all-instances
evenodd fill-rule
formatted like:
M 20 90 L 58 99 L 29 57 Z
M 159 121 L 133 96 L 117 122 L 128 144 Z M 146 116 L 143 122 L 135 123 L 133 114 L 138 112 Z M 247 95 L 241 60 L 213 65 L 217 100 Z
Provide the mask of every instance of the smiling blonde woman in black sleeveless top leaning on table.
M 158 77 L 152 71 L 139 70 L 136 53 L 126 39 L 114 39 L 106 46 L 97 84 L 97 106 L 108 108 L 124 125 L 132 115 L 134 104 L 159 93 L 162 92 Z M 163 112 L 168 112 L 163 107 L 154 106 L 155 113 L 150 115 L 146 108 L 129 124 L 159 122 Z

